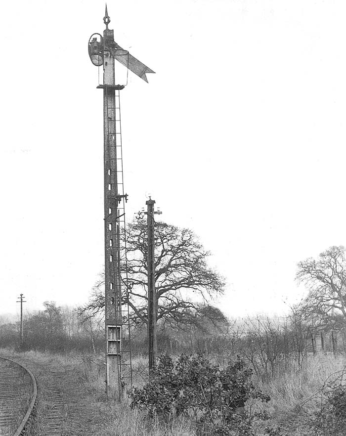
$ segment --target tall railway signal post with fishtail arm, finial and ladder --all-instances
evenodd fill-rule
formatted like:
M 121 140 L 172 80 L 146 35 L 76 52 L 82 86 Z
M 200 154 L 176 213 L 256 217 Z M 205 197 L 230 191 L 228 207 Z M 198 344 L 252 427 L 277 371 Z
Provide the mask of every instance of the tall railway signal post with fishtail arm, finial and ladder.
M 104 118 L 104 235 L 105 235 L 105 324 L 107 394 L 122 399 L 126 379 L 131 379 L 130 320 L 126 277 L 126 228 L 122 137 L 120 119 L 120 90 L 117 85 L 115 60 L 138 77 L 147 81 L 150 68 L 131 56 L 114 41 L 113 30 L 108 29 L 110 18 L 103 18 L 106 29 L 103 36 L 91 35 L 88 50 L 91 62 L 103 66 Z M 127 80 L 126 80 L 127 82 Z

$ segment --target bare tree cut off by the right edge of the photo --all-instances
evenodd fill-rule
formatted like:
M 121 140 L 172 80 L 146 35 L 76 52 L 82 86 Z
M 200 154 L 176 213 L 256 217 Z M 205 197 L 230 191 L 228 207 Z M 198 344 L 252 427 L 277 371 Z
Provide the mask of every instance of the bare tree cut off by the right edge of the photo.
M 303 302 L 305 315 L 330 323 L 338 315 L 346 318 L 346 249 L 333 246 L 317 259 L 298 263 L 297 280 L 309 290 Z

